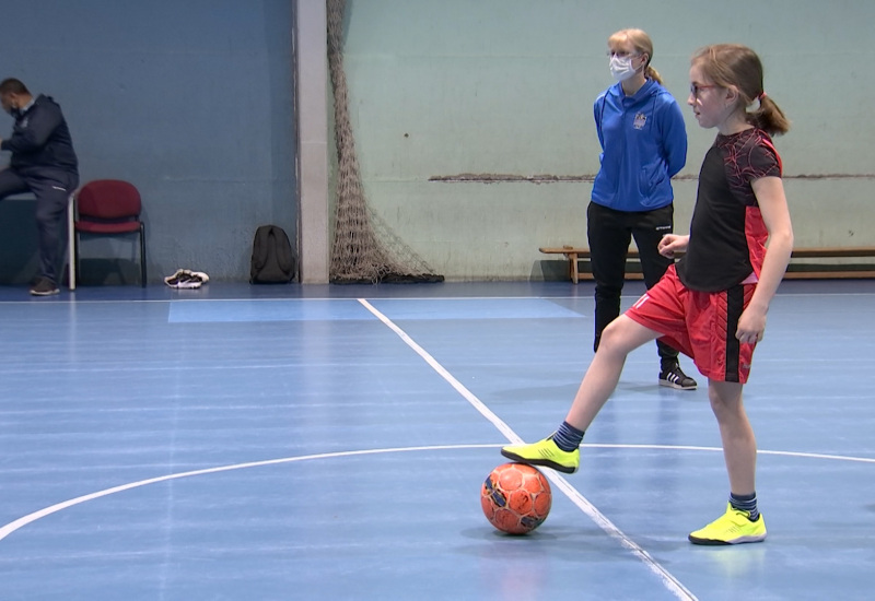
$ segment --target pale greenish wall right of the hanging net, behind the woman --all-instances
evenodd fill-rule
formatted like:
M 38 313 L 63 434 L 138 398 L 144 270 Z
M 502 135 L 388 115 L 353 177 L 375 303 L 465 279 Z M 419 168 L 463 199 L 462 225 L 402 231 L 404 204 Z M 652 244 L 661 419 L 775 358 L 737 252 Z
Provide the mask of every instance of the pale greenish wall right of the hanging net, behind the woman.
M 585 244 L 599 152 L 591 107 L 611 83 L 607 37 L 630 26 L 651 34 L 653 67 L 686 109 L 678 231 L 715 134 L 685 104 L 689 57 L 735 42 L 760 55 L 766 90 L 793 121 L 775 141 L 797 245 L 875 245 L 870 0 L 348 0 L 345 21 L 369 202 L 448 280 L 538 279 L 539 246 Z M 498 181 L 434 180 L 462 174 Z M 534 175 L 576 180 L 504 177 Z

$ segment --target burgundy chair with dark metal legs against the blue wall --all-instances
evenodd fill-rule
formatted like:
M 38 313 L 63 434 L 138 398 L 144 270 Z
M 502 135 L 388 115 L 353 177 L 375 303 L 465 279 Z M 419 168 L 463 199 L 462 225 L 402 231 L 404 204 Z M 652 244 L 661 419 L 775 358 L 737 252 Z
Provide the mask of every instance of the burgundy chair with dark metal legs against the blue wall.
M 140 240 L 140 284 L 145 287 L 145 225 L 140 220 L 142 201 L 132 184 L 120 179 L 95 179 L 82 186 L 73 197 L 73 269 L 71 287 L 79 272 L 80 234 L 121 236 L 138 234 Z

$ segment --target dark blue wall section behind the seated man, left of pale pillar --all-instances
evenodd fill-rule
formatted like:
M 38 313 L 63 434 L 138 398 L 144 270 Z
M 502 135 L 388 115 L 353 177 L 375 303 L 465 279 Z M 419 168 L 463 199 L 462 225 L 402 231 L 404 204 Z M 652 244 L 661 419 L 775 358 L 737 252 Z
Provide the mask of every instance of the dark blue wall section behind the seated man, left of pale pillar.
M 177 268 L 243 281 L 258 225 L 298 237 L 293 12 L 291 0 L 3 3 L 0 79 L 60 103 L 83 182 L 139 188 L 151 281 Z M 0 114 L 0 138 L 11 128 Z M 124 281 L 135 243 L 85 240 L 83 258 L 122 256 Z M 86 281 L 119 278 L 89 264 Z M 0 202 L 0 282 L 34 275 L 32 202 Z

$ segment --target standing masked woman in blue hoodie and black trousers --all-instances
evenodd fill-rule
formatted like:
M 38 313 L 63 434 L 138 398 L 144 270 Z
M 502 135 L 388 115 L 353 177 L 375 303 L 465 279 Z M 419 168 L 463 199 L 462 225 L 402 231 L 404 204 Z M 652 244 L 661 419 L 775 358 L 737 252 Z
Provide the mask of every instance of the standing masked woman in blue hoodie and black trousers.
M 677 101 L 650 66 L 653 42 L 641 30 L 621 30 L 608 38 L 610 72 L 617 83 L 598 95 L 593 111 L 602 144 L 600 168 L 586 210 L 586 234 L 595 279 L 595 342 L 620 315 L 626 257 L 638 246 L 648 288 L 673 262 L 657 250 L 674 229 L 672 177 L 687 161 L 687 130 Z M 656 342 L 660 384 L 696 389 L 680 369 L 678 352 Z

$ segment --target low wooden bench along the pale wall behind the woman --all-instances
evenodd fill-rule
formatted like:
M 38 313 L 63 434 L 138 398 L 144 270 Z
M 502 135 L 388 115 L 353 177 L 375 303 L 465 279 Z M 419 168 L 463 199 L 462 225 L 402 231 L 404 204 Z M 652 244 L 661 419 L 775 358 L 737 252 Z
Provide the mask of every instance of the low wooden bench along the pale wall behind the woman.
M 590 249 L 578 246 L 541 247 L 538 250 L 545 255 L 562 255 L 568 259 L 568 272 L 575 284 L 579 280 L 592 280 L 591 269 L 580 270 L 579 261 L 590 259 Z M 826 279 L 868 279 L 875 278 L 875 261 L 863 264 L 848 262 L 824 262 L 824 259 L 863 259 L 875 257 L 873 246 L 844 246 L 824 248 L 794 248 L 790 266 L 784 274 L 785 280 L 826 280 Z M 627 256 L 626 279 L 641 280 L 638 250 L 630 248 Z M 816 262 L 801 262 L 797 259 L 814 259 Z M 587 266 L 588 268 L 588 266 Z M 631 268 L 631 269 L 630 269 Z

